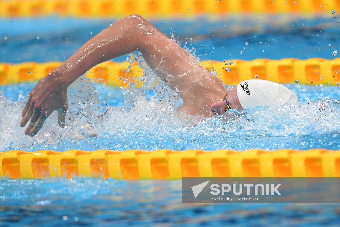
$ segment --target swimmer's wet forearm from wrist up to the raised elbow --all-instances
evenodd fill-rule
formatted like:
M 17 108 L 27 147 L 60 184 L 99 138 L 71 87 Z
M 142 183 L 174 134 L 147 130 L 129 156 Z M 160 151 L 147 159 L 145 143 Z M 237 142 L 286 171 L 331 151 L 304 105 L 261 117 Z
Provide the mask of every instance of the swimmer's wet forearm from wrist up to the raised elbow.
M 143 23 L 146 21 L 136 15 L 117 21 L 88 40 L 53 76 L 66 87 L 95 65 L 140 50 L 144 40 L 137 30 Z

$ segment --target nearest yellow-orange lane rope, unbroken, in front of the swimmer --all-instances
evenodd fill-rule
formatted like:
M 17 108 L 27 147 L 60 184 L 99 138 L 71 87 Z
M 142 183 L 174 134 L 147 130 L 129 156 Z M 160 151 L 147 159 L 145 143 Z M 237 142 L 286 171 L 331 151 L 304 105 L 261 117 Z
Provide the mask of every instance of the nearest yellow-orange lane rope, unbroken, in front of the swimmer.
M 113 179 L 182 177 L 340 177 L 340 150 L 11 150 L 0 153 L 0 177 L 76 176 Z

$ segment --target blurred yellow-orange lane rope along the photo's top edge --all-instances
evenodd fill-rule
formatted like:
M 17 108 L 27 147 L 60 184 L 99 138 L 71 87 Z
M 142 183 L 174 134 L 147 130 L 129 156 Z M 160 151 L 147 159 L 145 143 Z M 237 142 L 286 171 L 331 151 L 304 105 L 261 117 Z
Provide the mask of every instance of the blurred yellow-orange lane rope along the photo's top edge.
M 192 17 L 226 14 L 325 14 L 329 0 L 1 0 L 0 17 L 116 17 L 138 13 L 144 17 Z

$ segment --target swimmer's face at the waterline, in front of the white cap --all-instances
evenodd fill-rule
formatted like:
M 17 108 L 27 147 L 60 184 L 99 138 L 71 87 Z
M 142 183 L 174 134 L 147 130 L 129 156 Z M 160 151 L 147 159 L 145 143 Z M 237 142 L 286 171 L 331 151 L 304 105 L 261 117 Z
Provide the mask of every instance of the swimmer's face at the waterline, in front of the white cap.
M 240 101 L 238 100 L 238 97 L 237 97 L 236 86 L 234 86 L 234 87 L 232 87 L 228 90 L 225 98 L 228 101 L 229 106 L 232 109 L 242 108 L 241 103 L 240 103 Z M 214 115 L 224 114 L 225 111 L 226 111 L 226 106 L 227 106 L 227 103 L 226 103 L 225 99 L 212 104 L 211 107 L 210 107 L 211 112 L 212 112 L 211 115 L 214 116 Z

